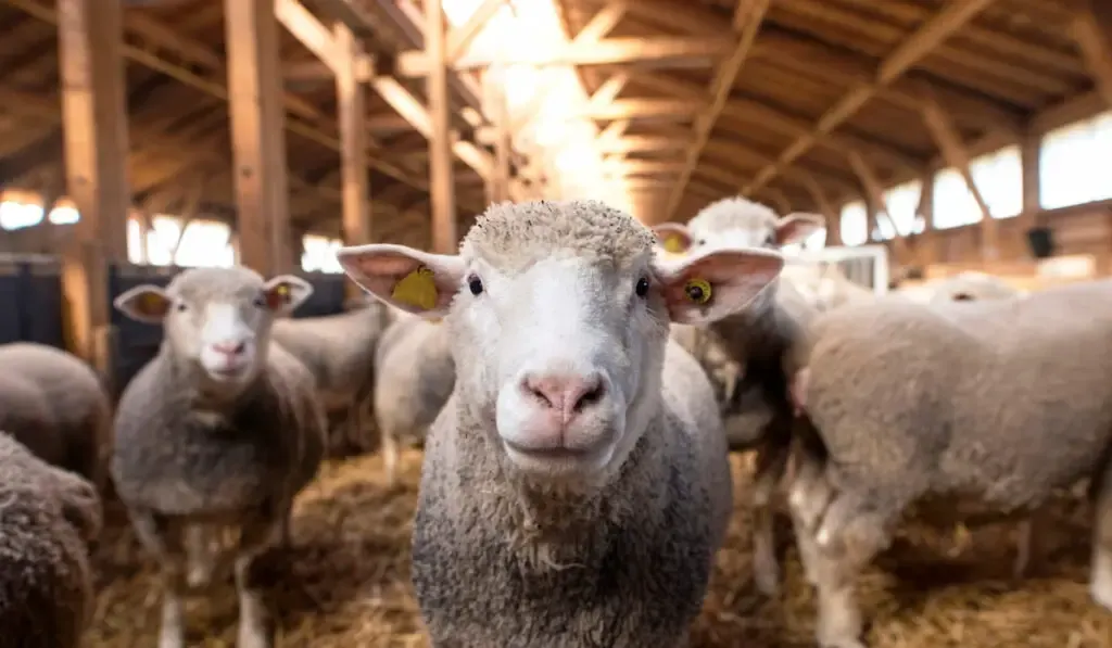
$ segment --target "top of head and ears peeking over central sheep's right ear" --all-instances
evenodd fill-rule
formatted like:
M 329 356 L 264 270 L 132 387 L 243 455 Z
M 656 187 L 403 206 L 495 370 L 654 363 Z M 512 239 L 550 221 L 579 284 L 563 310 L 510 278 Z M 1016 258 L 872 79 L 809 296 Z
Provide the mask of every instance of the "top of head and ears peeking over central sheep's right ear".
M 661 247 L 683 253 L 708 246 L 778 249 L 801 242 L 825 227 L 825 219 L 816 213 L 793 212 L 777 218 L 768 207 L 735 197 L 704 207 L 686 226 L 665 222 L 653 230 Z

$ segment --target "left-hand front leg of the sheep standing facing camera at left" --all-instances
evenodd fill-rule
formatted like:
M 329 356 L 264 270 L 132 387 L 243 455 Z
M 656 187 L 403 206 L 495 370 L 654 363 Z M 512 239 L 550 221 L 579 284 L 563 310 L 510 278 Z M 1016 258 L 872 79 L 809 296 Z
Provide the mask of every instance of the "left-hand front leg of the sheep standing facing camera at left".
M 181 596 L 186 589 L 185 551 L 177 535 L 151 514 L 129 511 L 140 544 L 158 558 L 162 584 L 162 615 L 158 648 L 185 648 Z

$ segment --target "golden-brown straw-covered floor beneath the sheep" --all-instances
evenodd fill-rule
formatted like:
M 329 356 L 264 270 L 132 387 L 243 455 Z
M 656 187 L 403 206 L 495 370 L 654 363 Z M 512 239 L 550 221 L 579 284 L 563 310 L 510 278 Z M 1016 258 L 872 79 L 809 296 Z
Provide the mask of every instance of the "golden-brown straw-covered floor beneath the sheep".
M 756 592 L 749 561 L 748 472 L 734 459 L 737 509 L 693 648 L 812 648 L 814 600 L 795 551 L 782 537 L 787 584 L 778 600 Z M 267 558 L 262 571 L 285 648 L 425 647 L 408 585 L 409 530 L 420 453 L 404 457 L 403 485 L 390 491 L 371 456 L 329 465 L 298 501 L 296 549 Z M 1112 614 L 1088 594 L 1089 507 L 1058 505 L 1032 576 L 1009 575 L 1013 528 L 951 531 L 909 524 L 863 579 L 873 648 L 1112 648 Z M 89 648 L 157 644 L 153 569 L 119 511 L 96 551 L 100 591 Z M 187 607 L 188 641 L 234 645 L 231 586 Z

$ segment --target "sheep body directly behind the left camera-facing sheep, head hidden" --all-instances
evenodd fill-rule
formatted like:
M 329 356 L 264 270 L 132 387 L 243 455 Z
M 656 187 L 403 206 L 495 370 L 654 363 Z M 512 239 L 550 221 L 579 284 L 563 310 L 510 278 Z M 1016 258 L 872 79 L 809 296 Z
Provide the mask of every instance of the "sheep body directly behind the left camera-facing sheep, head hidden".
M 329 426 L 328 453 L 361 455 L 371 449 L 370 407 L 378 339 L 389 325 L 389 310 L 349 300 L 349 310 L 325 317 L 278 319 L 270 337 L 312 373 L 326 412 L 339 413 Z

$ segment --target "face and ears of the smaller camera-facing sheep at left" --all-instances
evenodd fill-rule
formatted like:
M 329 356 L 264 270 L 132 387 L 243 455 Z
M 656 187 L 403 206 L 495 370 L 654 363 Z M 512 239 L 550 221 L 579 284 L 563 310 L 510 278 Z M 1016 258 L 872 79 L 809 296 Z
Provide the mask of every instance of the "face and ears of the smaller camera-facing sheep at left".
M 172 356 L 231 395 L 266 365 L 274 319 L 311 293 L 309 283 L 289 275 L 264 281 L 247 268 L 197 268 L 165 290 L 137 286 L 115 305 L 135 320 L 161 323 Z

